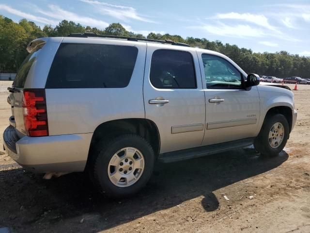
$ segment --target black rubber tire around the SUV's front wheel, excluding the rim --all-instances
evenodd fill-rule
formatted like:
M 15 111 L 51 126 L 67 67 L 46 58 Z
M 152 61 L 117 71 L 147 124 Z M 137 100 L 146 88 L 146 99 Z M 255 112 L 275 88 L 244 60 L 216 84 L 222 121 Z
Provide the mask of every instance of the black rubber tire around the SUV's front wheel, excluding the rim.
M 284 136 L 281 144 L 277 148 L 272 148 L 269 144 L 269 132 L 272 126 L 280 122 L 284 127 Z M 261 153 L 261 155 L 266 157 L 274 157 L 279 154 L 285 147 L 287 139 L 289 137 L 289 124 L 287 119 L 282 114 L 268 114 L 265 117 L 263 126 L 260 133 L 254 140 L 254 148 Z

